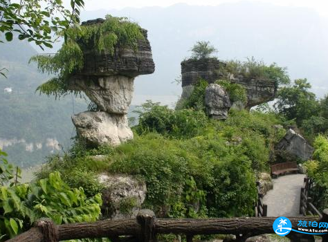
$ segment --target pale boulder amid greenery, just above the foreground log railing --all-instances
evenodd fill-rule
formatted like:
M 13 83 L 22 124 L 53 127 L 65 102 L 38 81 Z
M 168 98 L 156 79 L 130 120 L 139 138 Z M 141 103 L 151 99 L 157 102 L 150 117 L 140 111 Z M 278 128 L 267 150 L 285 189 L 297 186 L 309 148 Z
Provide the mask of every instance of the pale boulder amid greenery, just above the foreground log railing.
M 131 176 L 100 174 L 102 214 L 112 219 L 132 218 L 138 214 L 147 192 L 143 181 Z

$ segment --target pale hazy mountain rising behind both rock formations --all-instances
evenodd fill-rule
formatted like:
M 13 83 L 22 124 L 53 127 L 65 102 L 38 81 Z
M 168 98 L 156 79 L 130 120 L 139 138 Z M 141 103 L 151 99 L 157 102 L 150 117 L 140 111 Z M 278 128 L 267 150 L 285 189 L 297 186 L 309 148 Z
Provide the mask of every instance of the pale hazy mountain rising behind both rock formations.
M 292 78 L 307 77 L 316 94 L 328 92 L 328 21 L 314 10 L 242 1 L 98 10 L 82 12 L 82 19 L 106 14 L 130 17 L 148 30 L 156 71 L 137 78 L 136 95 L 180 95 L 181 87 L 172 82 L 197 40 L 211 41 L 219 59 L 254 56 L 277 62 L 289 68 Z

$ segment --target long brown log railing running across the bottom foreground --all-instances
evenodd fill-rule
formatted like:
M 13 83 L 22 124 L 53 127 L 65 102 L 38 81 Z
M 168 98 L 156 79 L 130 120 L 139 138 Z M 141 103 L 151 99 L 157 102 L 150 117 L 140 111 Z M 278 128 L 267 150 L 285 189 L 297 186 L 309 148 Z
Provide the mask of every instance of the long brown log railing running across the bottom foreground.
M 166 219 L 156 218 L 150 210 L 141 210 L 136 218 L 95 223 L 55 225 L 53 221 L 44 219 L 7 242 L 57 242 L 103 237 L 113 242 L 156 242 L 157 234 L 185 234 L 188 242 L 192 242 L 193 236 L 197 234 L 235 234 L 236 241 L 246 241 L 251 236 L 273 234 L 275 219 L 276 217 Z M 300 216 L 289 217 L 289 220 L 295 227 L 300 220 L 328 223 L 328 210 L 323 212 L 322 218 Z M 295 234 L 297 236 L 294 236 Z M 288 236 L 291 241 L 300 241 L 300 235 L 296 232 L 291 232 Z M 328 236 L 323 236 L 322 242 L 328 242 Z

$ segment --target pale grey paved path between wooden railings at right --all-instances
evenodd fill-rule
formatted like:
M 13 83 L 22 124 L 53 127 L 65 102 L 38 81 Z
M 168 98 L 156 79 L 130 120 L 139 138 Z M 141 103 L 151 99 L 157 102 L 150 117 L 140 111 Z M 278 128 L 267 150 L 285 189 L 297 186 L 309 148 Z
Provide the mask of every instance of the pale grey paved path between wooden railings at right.
M 273 178 L 273 189 L 264 196 L 268 216 L 300 216 L 300 188 L 303 179 L 303 174 Z

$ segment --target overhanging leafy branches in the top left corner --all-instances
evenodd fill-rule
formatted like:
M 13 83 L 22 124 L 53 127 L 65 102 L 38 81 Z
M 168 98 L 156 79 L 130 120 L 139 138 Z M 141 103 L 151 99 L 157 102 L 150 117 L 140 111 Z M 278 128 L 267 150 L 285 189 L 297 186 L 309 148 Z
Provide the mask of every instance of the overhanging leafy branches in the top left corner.
M 71 9 L 64 8 L 62 1 L 56 0 L 21 0 L 19 3 L 0 0 L 0 32 L 5 33 L 6 41 L 28 39 L 40 48 L 52 48 L 53 34 L 80 22 L 80 9 L 83 0 L 71 1 Z M 60 17 L 58 17 L 60 16 Z M 18 35 L 13 35 L 13 33 Z

